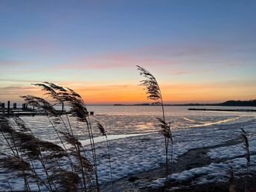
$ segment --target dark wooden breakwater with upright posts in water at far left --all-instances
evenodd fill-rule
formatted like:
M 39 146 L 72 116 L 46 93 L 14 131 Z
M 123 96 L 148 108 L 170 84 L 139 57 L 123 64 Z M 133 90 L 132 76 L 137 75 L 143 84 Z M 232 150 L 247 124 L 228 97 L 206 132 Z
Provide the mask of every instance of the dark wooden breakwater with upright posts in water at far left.
M 71 112 L 68 112 L 65 110 L 64 103 L 56 103 L 53 106 L 56 106 L 57 104 L 61 106 L 61 109 L 56 109 L 60 115 L 71 114 Z M 7 105 L 5 105 L 5 103 L 0 103 L 0 115 L 34 116 L 34 115 L 48 115 L 48 113 L 42 109 L 36 109 L 34 106 L 28 106 L 28 104 L 26 103 L 22 103 L 21 107 L 18 107 L 17 103 L 13 103 L 13 105 L 10 106 L 10 100 L 8 100 Z M 88 112 L 88 115 L 94 115 L 94 112 Z

